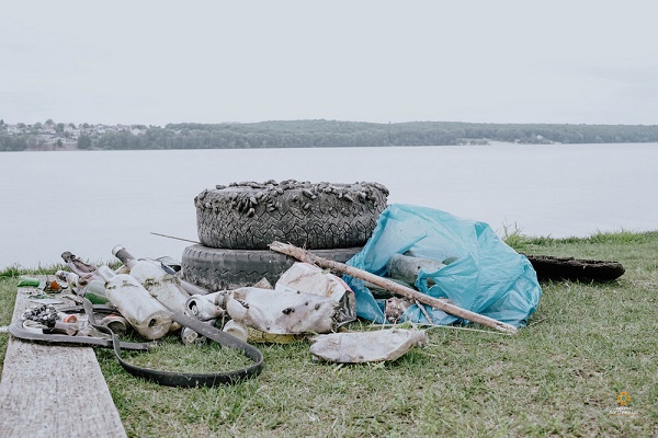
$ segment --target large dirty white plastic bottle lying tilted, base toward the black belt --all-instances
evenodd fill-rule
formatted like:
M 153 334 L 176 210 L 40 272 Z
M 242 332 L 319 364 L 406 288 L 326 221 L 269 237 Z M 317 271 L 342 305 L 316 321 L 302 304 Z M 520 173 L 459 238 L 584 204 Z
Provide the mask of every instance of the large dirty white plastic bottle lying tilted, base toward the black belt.
M 107 266 L 100 266 L 97 273 L 105 280 L 105 295 L 110 302 L 137 333 L 147 339 L 158 339 L 169 332 L 171 313 L 135 277 L 116 274 Z

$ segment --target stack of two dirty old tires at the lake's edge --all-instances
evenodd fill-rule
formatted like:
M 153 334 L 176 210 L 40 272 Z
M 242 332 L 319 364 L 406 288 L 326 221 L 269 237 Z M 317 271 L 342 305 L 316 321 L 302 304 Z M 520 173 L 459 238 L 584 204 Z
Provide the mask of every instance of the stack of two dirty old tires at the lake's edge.
M 217 185 L 194 198 L 201 244 L 188 246 L 182 274 L 208 290 L 272 285 L 295 260 L 269 250 L 292 243 L 344 263 L 361 251 L 386 208 L 378 183 L 287 180 Z

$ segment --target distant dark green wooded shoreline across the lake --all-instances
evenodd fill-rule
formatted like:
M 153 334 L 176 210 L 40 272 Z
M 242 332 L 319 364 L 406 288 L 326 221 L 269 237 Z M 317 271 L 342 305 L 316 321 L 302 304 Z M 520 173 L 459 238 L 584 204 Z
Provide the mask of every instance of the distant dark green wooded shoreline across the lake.
M 252 124 L 169 124 L 145 134 L 81 135 L 79 149 L 241 149 L 440 146 L 486 140 L 519 143 L 658 142 L 658 125 L 545 125 L 412 122 L 374 124 L 337 120 Z M 0 150 L 25 150 L 30 136 L 0 131 Z

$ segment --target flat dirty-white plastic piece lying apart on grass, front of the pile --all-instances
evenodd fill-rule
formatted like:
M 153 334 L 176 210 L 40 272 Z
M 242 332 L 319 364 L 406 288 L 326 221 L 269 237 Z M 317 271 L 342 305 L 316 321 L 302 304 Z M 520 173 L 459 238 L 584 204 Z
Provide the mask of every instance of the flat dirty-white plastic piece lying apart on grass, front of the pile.
M 310 354 L 331 362 L 361 364 L 395 360 L 428 342 L 424 331 L 389 328 L 374 332 L 332 333 L 313 338 Z

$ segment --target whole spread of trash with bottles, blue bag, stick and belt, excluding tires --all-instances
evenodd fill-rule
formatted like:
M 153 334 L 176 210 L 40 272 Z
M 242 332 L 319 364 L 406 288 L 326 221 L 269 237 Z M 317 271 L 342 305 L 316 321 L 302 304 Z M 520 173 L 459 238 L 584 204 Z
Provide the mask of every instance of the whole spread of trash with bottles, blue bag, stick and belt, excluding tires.
M 500 242 L 486 223 L 422 207 L 387 207 L 372 238 L 347 264 L 291 244 L 273 242 L 270 249 L 299 262 L 273 286 L 263 278 L 249 287 L 214 291 L 182 279 L 181 265 L 169 257 L 136 258 L 115 246 L 112 254 L 123 265 L 114 270 L 65 252 L 68 270 L 57 272 L 56 280 L 24 278 L 19 286 L 68 290 L 83 306 L 63 309 L 35 300 L 37 306 L 25 312 L 12 333 L 112 346 L 126 370 L 143 377 L 155 373 L 154 380 L 163 384 L 170 384 L 171 374 L 135 370 L 121 359 L 121 348 L 146 349 L 152 344 L 123 343 L 118 334 L 134 331 L 148 342 L 175 334 L 185 345 L 211 339 L 238 348 L 254 361 L 222 379 L 181 380 L 181 385 L 214 384 L 260 372 L 262 354 L 252 344 L 308 338 L 315 359 L 395 360 L 427 344 L 426 331 L 393 326 L 349 332 L 343 326 L 359 316 L 385 324 L 476 322 L 517 333 L 541 297 L 527 258 Z M 97 320 L 99 312 L 103 314 Z

